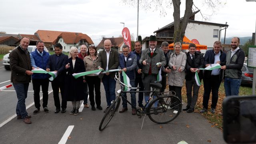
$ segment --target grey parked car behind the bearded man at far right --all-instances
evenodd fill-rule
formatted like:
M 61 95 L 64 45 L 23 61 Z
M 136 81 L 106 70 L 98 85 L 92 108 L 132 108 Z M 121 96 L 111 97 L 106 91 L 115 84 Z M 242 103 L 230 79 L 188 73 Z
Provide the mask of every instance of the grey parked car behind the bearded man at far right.
M 253 68 L 248 68 L 247 64 L 244 63 L 242 67 L 242 81 L 241 84 L 248 85 L 252 84 Z

